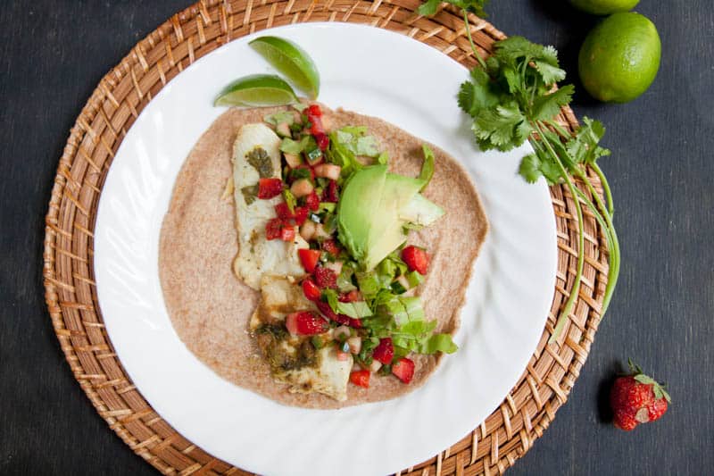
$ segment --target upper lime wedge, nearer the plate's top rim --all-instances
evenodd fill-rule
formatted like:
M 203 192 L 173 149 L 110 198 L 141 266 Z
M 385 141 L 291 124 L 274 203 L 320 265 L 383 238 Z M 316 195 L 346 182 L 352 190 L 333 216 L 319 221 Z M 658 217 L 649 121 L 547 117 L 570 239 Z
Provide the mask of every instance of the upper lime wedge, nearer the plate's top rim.
M 255 38 L 248 45 L 253 46 L 268 63 L 285 74 L 297 88 L 315 99 L 320 92 L 320 74 L 309 54 L 292 41 L 278 37 Z

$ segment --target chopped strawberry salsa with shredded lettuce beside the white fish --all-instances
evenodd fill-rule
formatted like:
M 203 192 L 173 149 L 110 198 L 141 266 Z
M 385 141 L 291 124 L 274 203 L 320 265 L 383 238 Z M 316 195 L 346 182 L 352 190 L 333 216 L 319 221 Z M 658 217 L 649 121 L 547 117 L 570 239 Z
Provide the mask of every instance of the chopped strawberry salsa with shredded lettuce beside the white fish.
M 366 269 L 337 232 L 346 182 L 367 164 L 386 164 L 388 155 L 379 151 L 367 128 L 330 129 L 318 104 L 274 113 L 264 121 L 282 138 L 284 159 L 283 180 L 259 182 L 258 199 L 283 197 L 266 225 L 266 238 L 293 241 L 299 234 L 308 243 L 298 250 L 306 275 L 296 285 L 317 308 L 288 314 L 286 330 L 314 349 L 336 346 L 337 359 L 353 355 L 353 385 L 369 388 L 375 372 L 409 384 L 415 373 L 412 355 L 457 349 L 451 335 L 435 333 L 436 320 L 427 321 L 419 296 L 414 296 L 428 274 L 428 252 L 403 244 Z M 427 146 L 424 152 L 422 175 L 430 179 L 434 156 Z

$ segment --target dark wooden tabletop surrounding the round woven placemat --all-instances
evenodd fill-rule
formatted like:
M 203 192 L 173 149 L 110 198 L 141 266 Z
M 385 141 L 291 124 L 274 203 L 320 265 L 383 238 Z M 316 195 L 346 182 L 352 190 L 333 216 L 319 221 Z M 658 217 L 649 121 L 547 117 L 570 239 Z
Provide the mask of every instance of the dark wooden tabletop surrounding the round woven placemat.
M 565 0 L 492 0 L 490 20 L 560 50 L 571 79 L 594 18 Z M 154 474 L 90 405 L 54 337 L 41 281 L 44 215 L 68 131 L 137 40 L 190 0 L 6 1 L 0 9 L 0 474 Z M 642 0 L 662 64 L 632 104 L 578 93 L 608 127 L 602 160 L 622 243 L 610 311 L 568 405 L 510 474 L 714 472 L 714 8 Z M 576 81 L 576 85 L 577 84 Z M 660 422 L 625 433 L 602 418 L 607 383 L 633 357 L 668 380 Z

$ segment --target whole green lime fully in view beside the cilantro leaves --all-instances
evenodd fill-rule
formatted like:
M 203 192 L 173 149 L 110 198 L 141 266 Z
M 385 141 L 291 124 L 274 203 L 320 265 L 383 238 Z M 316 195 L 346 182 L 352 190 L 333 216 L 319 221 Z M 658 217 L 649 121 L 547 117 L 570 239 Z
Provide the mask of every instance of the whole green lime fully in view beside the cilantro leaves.
M 580 47 L 580 79 L 596 99 L 627 103 L 652 85 L 660 69 L 661 49 L 657 28 L 647 17 L 614 13 Z

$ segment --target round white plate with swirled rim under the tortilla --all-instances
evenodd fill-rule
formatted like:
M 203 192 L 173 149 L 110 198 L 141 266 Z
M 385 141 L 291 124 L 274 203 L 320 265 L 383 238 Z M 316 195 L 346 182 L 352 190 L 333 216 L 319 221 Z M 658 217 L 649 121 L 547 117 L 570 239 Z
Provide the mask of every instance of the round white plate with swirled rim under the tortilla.
M 266 33 L 233 41 L 171 80 L 121 143 L 95 228 L 106 330 L 149 404 L 228 463 L 263 474 L 396 472 L 463 438 L 526 368 L 555 282 L 548 188 L 517 175 L 527 149 L 477 151 L 455 98 L 468 72 L 436 49 L 345 23 L 270 30 L 310 52 L 320 67 L 320 101 L 383 118 L 461 160 L 483 198 L 491 231 L 461 314 L 455 338 L 461 349 L 444 358 L 422 388 L 387 402 L 324 411 L 278 405 L 220 379 L 171 327 L 159 283 L 159 232 L 181 163 L 223 112 L 212 107 L 213 97 L 232 79 L 270 71 L 247 46 Z

